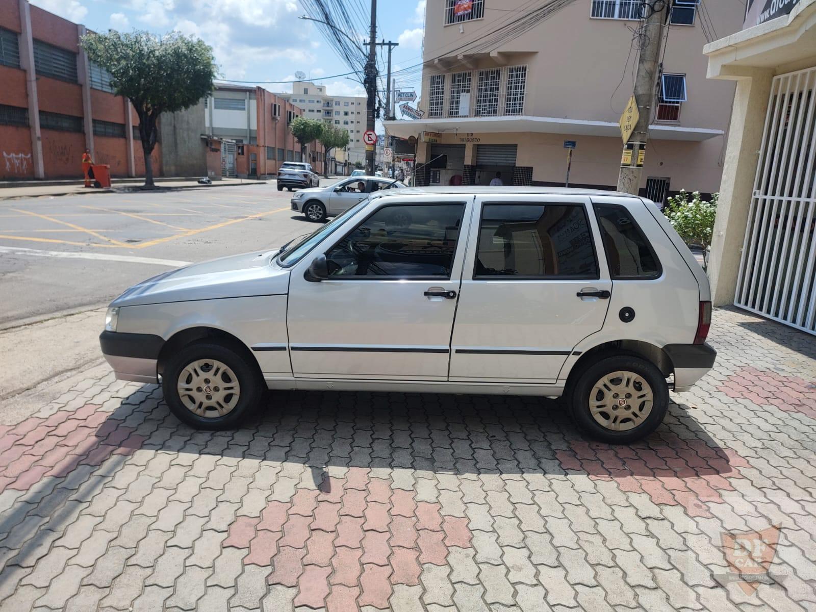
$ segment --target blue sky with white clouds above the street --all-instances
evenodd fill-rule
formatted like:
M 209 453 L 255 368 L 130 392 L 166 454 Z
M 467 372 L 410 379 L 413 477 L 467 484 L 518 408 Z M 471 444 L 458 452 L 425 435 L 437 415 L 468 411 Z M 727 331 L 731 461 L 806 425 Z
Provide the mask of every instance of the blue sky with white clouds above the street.
M 56 15 L 88 29 L 148 30 L 163 34 L 178 30 L 202 38 L 215 51 L 220 78 L 246 81 L 269 91 L 291 91 L 295 73 L 326 85 L 329 95 L 364 95 L 360 83 L 346 77 L 349 68 L 322 38 L 298 0 L 30 0 Z M 370 2 L 363 0 L 361 6 Z M 366 10 L 366 15 L 367 15 Z M 421 61 L 425 0 L 379 0 L 378 40 L 399 42 L 392 66 L 400 69 Z M 385 69 L 385 51 L 379 64 Z M 384 78 L 384 77 L 383 77 Z M 397 88 L 415 89 L 419 77 L 397 82 Z M 384 95 L 382 95 L 384 99 Z M 397 113 L 399 115 L 399 113 Z

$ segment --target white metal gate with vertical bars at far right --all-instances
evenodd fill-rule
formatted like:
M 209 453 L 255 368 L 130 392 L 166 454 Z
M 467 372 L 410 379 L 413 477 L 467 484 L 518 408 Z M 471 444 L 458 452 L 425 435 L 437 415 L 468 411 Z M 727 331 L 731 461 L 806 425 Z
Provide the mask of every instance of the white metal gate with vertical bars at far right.
M 774 78 L 734 304 L 816 334 L 816 67 Z

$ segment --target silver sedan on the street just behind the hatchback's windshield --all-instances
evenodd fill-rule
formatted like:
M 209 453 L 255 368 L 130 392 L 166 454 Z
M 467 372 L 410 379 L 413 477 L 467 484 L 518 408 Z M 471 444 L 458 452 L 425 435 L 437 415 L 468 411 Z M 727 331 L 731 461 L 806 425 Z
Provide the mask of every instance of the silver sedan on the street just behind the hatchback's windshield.
M 405 187 L 398 180 L 357 175 L 329 187 L 304 189 L 292 196 L 292 210 L 302 212 L 310 221 L 325 221 L 383 189 Z

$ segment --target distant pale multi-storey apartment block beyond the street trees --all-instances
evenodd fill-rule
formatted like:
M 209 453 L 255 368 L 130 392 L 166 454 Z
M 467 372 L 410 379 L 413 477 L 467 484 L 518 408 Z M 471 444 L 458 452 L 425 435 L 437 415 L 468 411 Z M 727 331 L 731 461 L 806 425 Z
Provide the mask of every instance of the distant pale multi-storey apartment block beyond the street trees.
M 333 153 L 337 162 L 366 162 L 366 145 L 362 134 L 366 131 L 366 97 L 329 95 L 326 86 L 310 81 L 292 84 L 292 93 L 276 94 L 304 109 L 304 117 L 322 119 L 348 131 L 348 147 Z

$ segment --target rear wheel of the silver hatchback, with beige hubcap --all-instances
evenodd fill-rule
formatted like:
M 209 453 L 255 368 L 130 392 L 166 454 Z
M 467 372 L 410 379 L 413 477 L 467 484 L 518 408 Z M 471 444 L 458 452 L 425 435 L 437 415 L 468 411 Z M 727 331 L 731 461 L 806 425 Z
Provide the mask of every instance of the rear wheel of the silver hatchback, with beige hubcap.
M 650 361 L 617 355 L 583 368 L 565 399 L 574 423 L 588 436 L 608 444 L 629 444 L 663 423 L 668 386 Z

